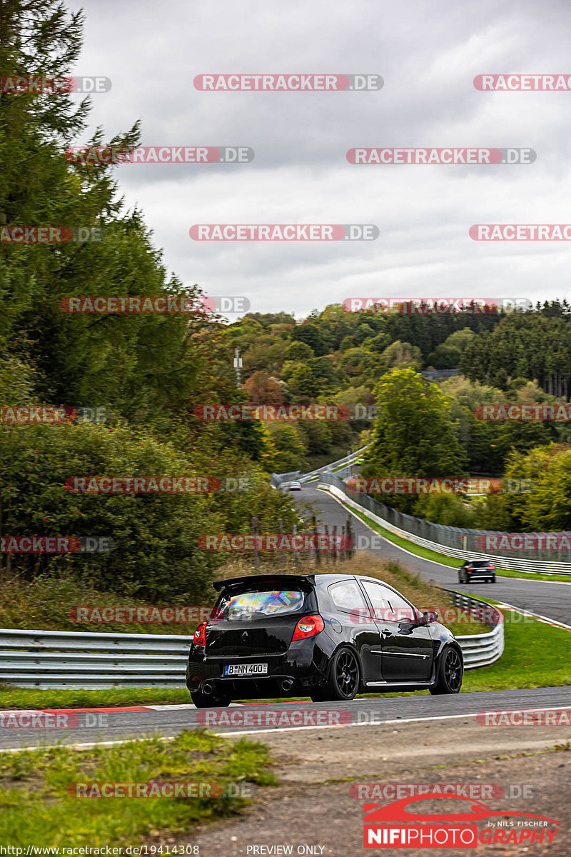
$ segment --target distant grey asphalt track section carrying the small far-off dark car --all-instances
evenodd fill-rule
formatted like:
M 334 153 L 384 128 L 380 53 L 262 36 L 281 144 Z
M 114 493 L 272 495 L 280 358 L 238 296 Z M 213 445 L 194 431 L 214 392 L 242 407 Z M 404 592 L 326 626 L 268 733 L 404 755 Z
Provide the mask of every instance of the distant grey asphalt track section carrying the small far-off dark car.
M 360 518 L 345 506 L 342 506 L 331 494 L 318 490 L 313 484 L 306 484 L 298 491 L 292 491 L 290 496 L 298 503 L 312 503 L 318 512 L 318 523 L 337 526 L 340 532 L 342 524 L 347 522 L 348 514 L 351 515 L 354 527 L 355 540 L 359 545 L 365 543 L 365 539 L 374 536 L 375 545 L 371 549 L 383 560 L 399 560 L 402 566 L 420 572 L 421 576 L 439 586 L 465 592 L 475 598 L 483 596 L 493 598 L 499 602 L 511 604 L 520 610 L 529 610 L 548 619 L 571 625 L 571 583 L 557 583 L 555 580 L 520 580 L 518 578 L 497 577 L 495 584 L 459 584 L 458 572 L 451 566 L 442 566 L 438 562 L 425 560 L 421 556 L 409 554 L 393 542 L 388 542 L 383 536 L 373 532 L 364 524 Z M 330 530 L 331 531 L 331 530 Z

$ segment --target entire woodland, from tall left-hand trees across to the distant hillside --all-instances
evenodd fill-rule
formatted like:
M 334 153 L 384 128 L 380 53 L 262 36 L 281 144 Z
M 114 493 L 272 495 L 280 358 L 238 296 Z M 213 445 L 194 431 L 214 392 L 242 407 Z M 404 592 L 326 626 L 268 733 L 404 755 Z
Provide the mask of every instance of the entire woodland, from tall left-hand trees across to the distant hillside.
M 3 0 L 2 15 L 4 75 L 68 74 L 80 53 L 80 13 L 54 0 Z M 369 441 L 366 470 L 375 475 L 568 472 L 568 423 L 484 423 L 473 414 L 482 402 L 568 399 L 565 302 L 482 316 L 352 315 L 331 304 L 302 321 L 253 312 L 234 323 L 198 311 L 62 312 L 60 301 L 72 296 L 200 294 L 167 272 L 143 214 L 118 194 L 116 167 L 65 157 L 85 143 L 89 110 L 89 99 L 78 104 L 66 93 L 0 93 L 0 229 L 104 230 L 100 242 L 0 242 L 0 404 L 104 406 L 110 414 L 98 424 L 0 423 L 0 533 L 110 535 L 120 549 L 0 554 L 4 573 L 80 570 L 129 596 L 194 599 L 223 561 L 197 548 L 199 531 L 246 530 L 253 515 L 261 530 L 278 518 L 293 524 L 297 513 L 271 489 L 271 472 L 308 469 Z M 134 122 L 112 139 L 98 129 L 86 142 L 133 147 L 139 139 Z M 421 375 L 428 368 L 461 374 L 436 386 Z M 197 405 L 246 401 L 378 403 L 379 413 L 375 423 L 201 423 L 194 415 Z M 65 488 L 71 476 L 104 474 L 245 476 L 247 496 Z M 418 500 L 413 511 L 449 523 L 562 527 L 569 500 L 557 494 L 550 505 L 542 496 L 491 498 L 478 515 L 455 499 Z

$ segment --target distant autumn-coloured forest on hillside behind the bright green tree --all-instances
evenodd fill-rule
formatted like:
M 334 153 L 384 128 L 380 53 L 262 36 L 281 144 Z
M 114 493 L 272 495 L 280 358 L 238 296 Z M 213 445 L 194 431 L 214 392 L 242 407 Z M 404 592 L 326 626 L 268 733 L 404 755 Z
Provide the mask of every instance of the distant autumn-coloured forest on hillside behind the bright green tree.
M 567 439 L 550 423 L 481 423 L 476 405 L 567 398 L 571 315 L 566 302 L 516 315 L 350 314 L 339 304 L 296 321 L 248 313 L 226 328 L 241 349 L 244 389 L 256 404 L 370 405 L 386 373 L 456 369 L 445 381 L 469 470 L 500 474 L 515 449 Z M 569 387 L 571 390 L 571 387 Z M 270 426 L 283 470 L 311 469 L 368 439 L 371 423 Z M 287 466 L 286 466 L 287 464 Z

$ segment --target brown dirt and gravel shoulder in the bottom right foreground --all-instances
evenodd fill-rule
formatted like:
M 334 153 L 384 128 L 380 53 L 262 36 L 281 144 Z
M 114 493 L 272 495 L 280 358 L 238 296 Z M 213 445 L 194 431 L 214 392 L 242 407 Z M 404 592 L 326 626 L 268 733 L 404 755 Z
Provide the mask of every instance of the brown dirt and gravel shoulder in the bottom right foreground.
M 238 818 L 201 826 L 192 838 L 205 857 L 248 857 L 269 854 L 312 854 L 353 857 L 371 853 L 363 847 L 363 804 L 352 796 L 356 783 L 400 784 L 472 783 L 472 794 L 497 812 L 494 825 L 506 839 L 519 830 L 509 812 L 528 812 L 561 822 L 550 845 L 544 842 L 479 844 L 472 854 L 550 854 L 571 852 L 568 782 L 571 770 L 571 730 L 554 727 L 485 728 L 474 722 L 431 721 L 363 728 L 323 729 L 260 735 L 276 759 L 277 788 L 261 789 Z M 553 748 L 559 745 L 561 750 Z M 567 748 L 567 751 L 563 749 Z M 504 796 L 498 797 L 498 794 Z M 511 794 L 513 797 L 509 797 Z M 387 804 L 390 797 L 373 793 L 369 800 Z M 489 795 L 492 794 L 491 797 Z M 527 796 L 524 797 L 523 794 Z M 398 795 L 397 797 L 400 797 Z M 466 812 L 452 801 L 425 802 L 425 812 Z M 414 812 L 422 811 L 419 804 Z M 488 820 L 478 823 L 484 830 Z M 555 825 L 548 825 L 554 830 Z M 492 831 L 495 833 L 495 830 Z M 180 839 L 180 842 L 190 842 Z M 278 848 L 279 847 L 279 848 Z M 288 848 L 292 850 L 289 851 Z M 526 850 L 524 850 L 526 849 Z M 424 853 L 423 848 L 384 848 L 402 857 Z M 463 849 L 461 849 L 462 851 Z M 460 851 L 460 853 L 461 853 Z M 448 857 L 458 848 L 438 849 Z M 464 852 L 466 853 L 466 851 Z

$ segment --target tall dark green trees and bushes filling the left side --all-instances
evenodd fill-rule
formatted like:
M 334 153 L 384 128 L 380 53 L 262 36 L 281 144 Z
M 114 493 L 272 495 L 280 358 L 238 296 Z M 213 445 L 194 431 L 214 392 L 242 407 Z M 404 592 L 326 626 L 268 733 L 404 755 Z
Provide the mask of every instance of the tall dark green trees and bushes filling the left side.
M 53 0 L 3 0 L 3 75 L 62 76 L 80 53 L 83 19 Z M 110 554 L 0 554 L 4 573 L 89 574 L 116 592 L 196 602 L 222 559 L 199 532 L 287 526 L 271 490 L 280 464 L 260 423 L 209 424 L 195 405 L 247 398 L 236 389 L 220 319 L 200 312 L 69 315 L 62 297 L 192 296 L 165 270 L 142 213 L 117 193 L 113 165 L 75 164 L 89 99 L 0 93 L 0 227 L 90 226 L 98 243 L 0 243 L 1 405 L 104 406 L 105 423 L 0 423 L 0 533 L 112 536 Z M 134 146 L 138 123 L 89 145 Z M 247 476 L 244 494 L 70 494 L 72 476 Z

